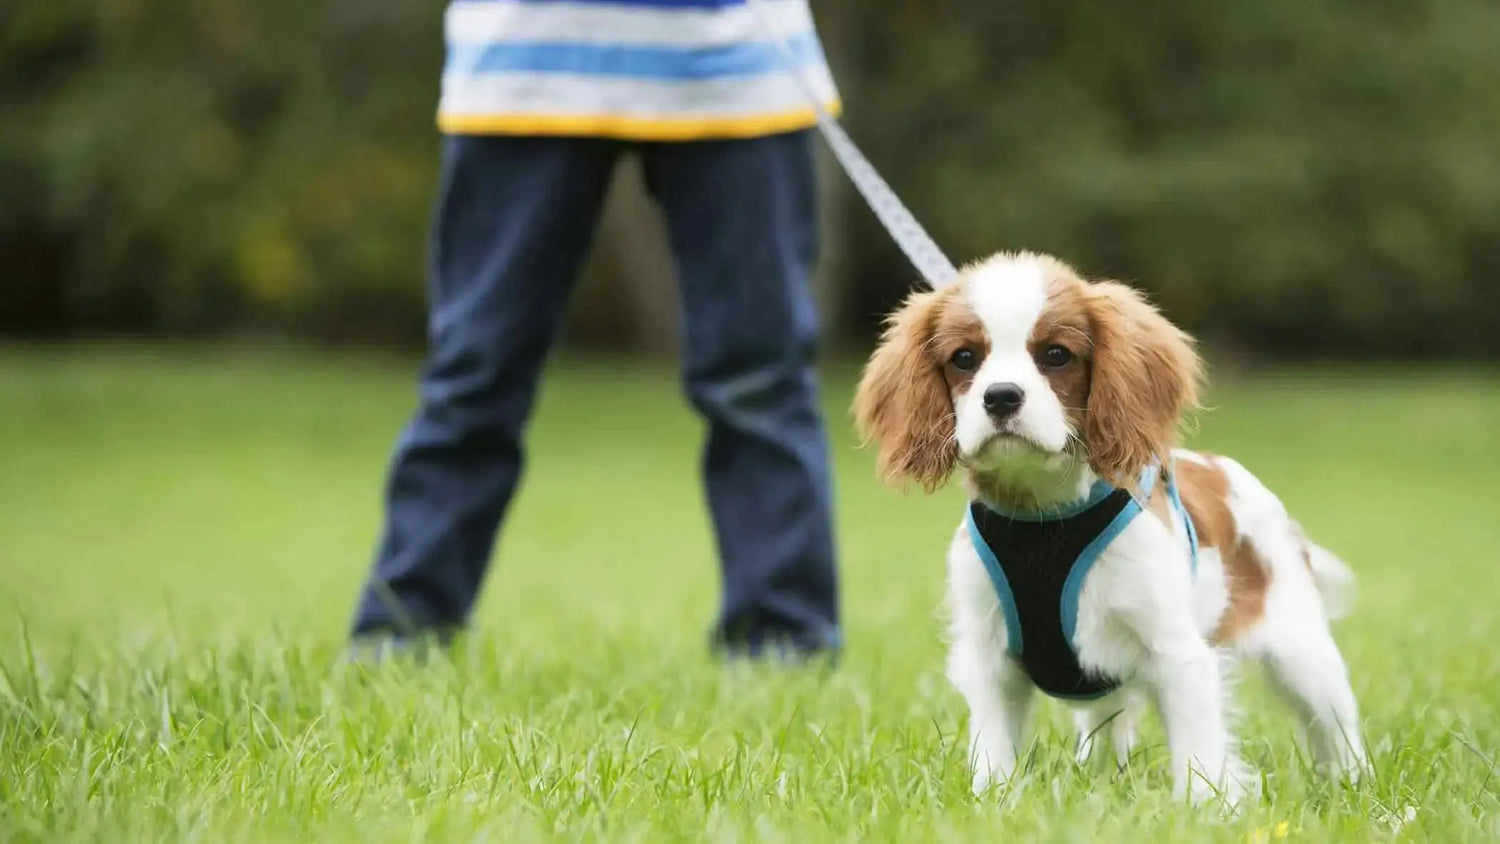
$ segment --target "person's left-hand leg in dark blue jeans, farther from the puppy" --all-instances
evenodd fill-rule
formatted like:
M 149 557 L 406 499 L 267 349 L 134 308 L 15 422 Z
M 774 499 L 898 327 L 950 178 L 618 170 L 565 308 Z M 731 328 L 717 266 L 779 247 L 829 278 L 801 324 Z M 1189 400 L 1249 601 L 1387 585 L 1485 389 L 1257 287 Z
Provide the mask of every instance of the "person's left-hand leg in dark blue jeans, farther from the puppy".
M 430 349 L 354 634 L 446 633 L 474 606 L 520 477 L 520 436 L 618 144 L 444 139 Z

